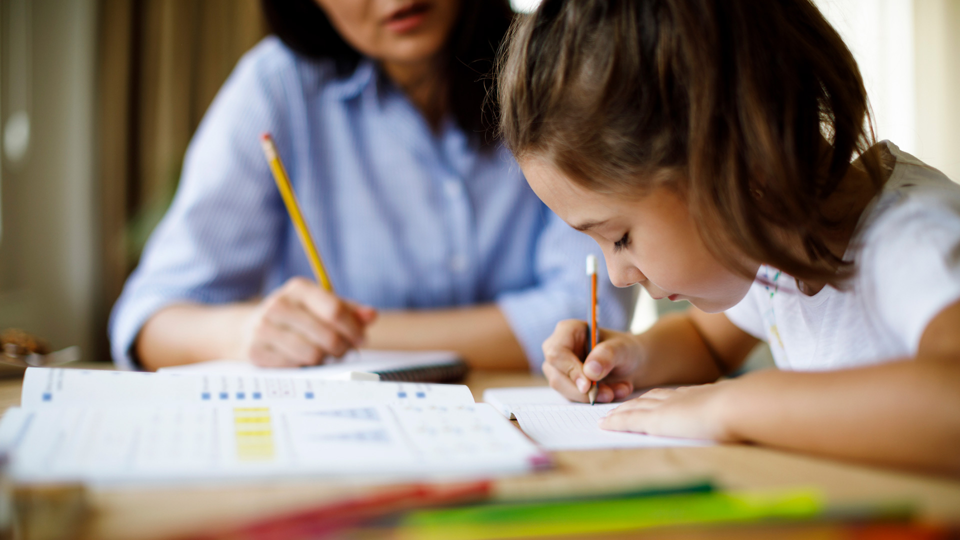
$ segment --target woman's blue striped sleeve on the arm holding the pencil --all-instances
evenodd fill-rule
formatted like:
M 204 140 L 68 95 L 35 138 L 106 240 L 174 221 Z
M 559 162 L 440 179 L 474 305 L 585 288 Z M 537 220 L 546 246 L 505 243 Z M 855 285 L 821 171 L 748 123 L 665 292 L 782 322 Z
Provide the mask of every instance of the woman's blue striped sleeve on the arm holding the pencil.
M 132 344 L 161 307 L 221 304 L 260 292 L 284 234 L 282 201 L 260 148 L 270 132 L 289 148 L 284 87 L 294 72 L 268 38 L 241 60 L 204 115 L 180 186 L 110 315 L 117 366 L 135 369 Z M 290 156 L 282 156 L 289 160 Z

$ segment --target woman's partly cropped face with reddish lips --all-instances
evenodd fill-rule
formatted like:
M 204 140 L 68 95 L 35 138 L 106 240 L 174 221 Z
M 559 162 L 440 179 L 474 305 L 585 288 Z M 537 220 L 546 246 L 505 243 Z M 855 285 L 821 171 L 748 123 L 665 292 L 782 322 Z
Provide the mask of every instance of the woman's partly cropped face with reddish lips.
M 429 60 L 456 24 L 459 0 L 315 0 L 340 36 L 378 61 Z

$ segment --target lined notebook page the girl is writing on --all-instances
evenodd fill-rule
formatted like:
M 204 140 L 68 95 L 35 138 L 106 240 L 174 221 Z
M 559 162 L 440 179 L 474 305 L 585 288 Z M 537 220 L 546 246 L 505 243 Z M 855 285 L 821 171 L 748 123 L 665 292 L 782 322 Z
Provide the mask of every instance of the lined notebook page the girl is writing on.
M 710 441 L 601 430 L 597 422 L 620 404 L 525 405 L 514 410 L 520 429 L 546 450 L 708 446 Z

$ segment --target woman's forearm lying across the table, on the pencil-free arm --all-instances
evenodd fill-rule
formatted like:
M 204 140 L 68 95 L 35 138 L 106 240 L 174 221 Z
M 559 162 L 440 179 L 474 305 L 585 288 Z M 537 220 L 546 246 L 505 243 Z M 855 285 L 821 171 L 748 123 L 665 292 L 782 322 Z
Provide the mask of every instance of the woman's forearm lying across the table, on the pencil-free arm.
M 384 311 L 368 329 L 366 346 L 455 351 L 477 368 L 529 367 L 507 318 L 494 305 Z

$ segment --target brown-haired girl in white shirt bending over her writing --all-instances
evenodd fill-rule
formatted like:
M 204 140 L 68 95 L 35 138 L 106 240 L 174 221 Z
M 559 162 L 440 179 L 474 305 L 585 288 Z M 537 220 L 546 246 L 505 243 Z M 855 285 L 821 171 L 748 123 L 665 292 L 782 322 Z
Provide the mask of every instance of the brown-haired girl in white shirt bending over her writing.
M 960 187 L 874 143 L 852 55 L 806 0 L 545 0 L 501 128 L 614 284 L 688 300 L 640 335 L 543 344 L 609 430 L 960 473 Z M 718 380 L 758 339 L 780 370 Z

